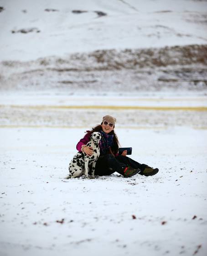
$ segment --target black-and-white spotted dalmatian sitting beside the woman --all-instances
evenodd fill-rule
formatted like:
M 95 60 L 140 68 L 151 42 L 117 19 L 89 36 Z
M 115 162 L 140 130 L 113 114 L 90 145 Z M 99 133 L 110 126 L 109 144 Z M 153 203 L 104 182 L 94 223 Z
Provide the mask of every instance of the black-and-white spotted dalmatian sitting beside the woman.
M 69 164 L 69 175 L 66 179 L 80 177 L 83 174 L 86 175 L 88 179 L 89 166 L 92 165 L 92 178 L 94 178 L 94 171 L 96 161 L 100 155 L 100 149 L 98 143 L 101 139 L 100 132 L 94 131 L 91 135 L 91 140 L 87 143 L 86 146 L 93 147 L 93 155 L 87 156 L 84 152 L 78 152 L 71 160 Z

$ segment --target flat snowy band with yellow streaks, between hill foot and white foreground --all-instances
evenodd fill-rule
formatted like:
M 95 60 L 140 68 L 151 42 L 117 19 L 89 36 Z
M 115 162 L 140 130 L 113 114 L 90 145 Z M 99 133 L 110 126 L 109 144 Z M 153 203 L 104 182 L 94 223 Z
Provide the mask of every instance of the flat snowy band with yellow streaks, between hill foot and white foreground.
M 87 127 L 110 114 L 117 127 L 207 129 L 207 97 L 13 94 L 0 98 L 0 127 Z

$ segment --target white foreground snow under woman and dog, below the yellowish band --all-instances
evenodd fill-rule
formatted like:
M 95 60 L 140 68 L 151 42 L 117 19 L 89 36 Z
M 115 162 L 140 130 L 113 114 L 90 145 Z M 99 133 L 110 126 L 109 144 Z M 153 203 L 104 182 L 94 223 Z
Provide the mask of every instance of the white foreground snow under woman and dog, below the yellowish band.
M 158 174 L 64 180 L 88 128 L 0 129 L 0 255 L 206 255 L 207 130 L 117 129 Z

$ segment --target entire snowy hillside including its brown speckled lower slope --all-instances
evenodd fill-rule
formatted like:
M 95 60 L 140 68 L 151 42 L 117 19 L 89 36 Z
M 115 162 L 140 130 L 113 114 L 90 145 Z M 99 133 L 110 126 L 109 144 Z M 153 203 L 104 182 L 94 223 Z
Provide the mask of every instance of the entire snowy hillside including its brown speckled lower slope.
M 207 1 L 0 0 L 0 90 L 207 88 Z

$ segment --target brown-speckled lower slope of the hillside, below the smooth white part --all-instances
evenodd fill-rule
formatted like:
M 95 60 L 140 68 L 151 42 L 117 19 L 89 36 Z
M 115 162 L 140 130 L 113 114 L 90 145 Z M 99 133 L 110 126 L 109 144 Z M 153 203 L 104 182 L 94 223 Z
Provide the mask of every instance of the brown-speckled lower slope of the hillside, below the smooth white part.
M 1 91 L 144 92 L 207 89 L 207 45 L 97 50 L 2 61 Z

